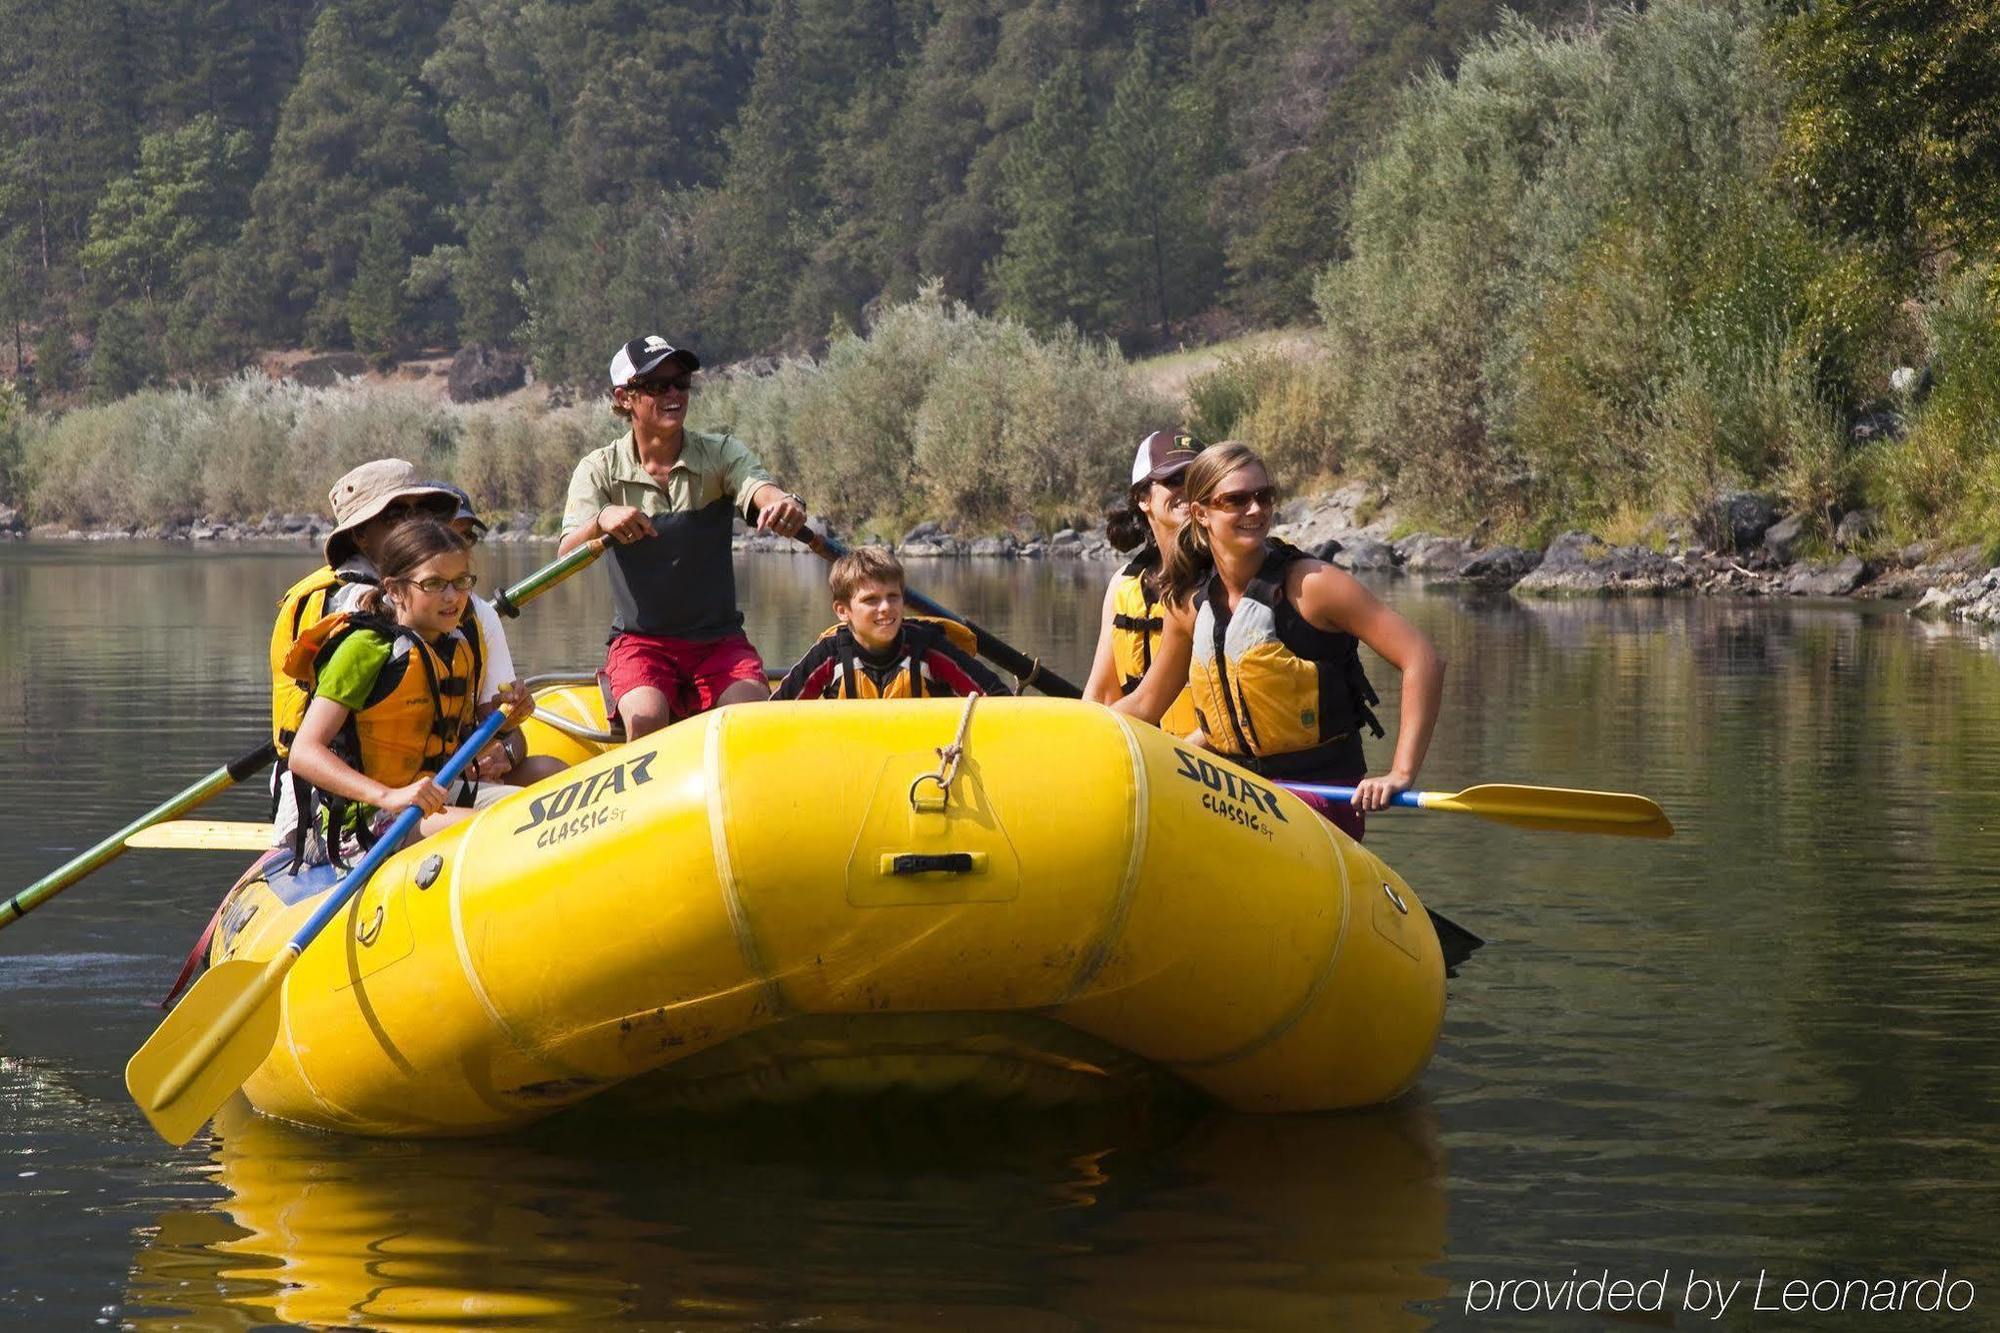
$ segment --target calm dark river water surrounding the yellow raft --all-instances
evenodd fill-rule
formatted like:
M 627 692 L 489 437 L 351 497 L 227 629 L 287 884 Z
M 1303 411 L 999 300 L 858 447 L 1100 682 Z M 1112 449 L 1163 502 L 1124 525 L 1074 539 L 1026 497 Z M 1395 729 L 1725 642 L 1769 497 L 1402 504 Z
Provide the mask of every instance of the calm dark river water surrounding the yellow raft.
M 488 550 L 482 574 L 546 556 Z M 0 887 L 256 745 L 270 608 L 308 566 L 0 544 Z M 912 568 L 1078 681 L 1106 574 Z M 790 660 L 826 620 L 822 566 L 738 576 Z M 1642 791 L 1680 829 L 1376 819 L 1490 941 L 1402 1103 L 808 1109 L 672 1137 L 598 1115 L 478 1143 L 232 1111 L 170 1149 L 120 1071 L 244 857 L 142 851 L 0 933 L 0 1323 L 1536 1329 L 1498 1283 L 1574 1271 L 1634 1285 L 1620 1325 L 1714 1327 L 1710 1279 L 1742 1283 L 1724 1327 L 2000 1325 L 1994 644 L 1892 608 L 1382 592 L 1452 664 L 1426 787 Z M 586 572 L 516 624 L 516 658 L 594 666 L 608 612 Z M 1896 1313 L 1858 1311 L 1878 1285 L 1842 1287 L 1846 1315 L 1770 1309 L 1788 1281 L 1940 1271 L 1962 1285 L 1900 1287 Z M 1972 1309 L 1916 1309 L 1938 1291 Z

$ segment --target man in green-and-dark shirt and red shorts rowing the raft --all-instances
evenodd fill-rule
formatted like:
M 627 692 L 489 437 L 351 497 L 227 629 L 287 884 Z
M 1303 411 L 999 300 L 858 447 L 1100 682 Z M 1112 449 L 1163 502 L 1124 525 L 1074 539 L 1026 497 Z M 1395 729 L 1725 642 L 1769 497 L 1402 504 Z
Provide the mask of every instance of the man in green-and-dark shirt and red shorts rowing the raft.
M 744 636 L 730 522 L 796 536 L 806 504 L 728 434 L 686 428 L 700 358 L 658 334 L 612 356 L 612 412 L 632 430 L 584 456 L 562 506 L 558 554 L 598 536 L 612 546 L 612 707 L 628 737 L 720 705 L 770 697 Z

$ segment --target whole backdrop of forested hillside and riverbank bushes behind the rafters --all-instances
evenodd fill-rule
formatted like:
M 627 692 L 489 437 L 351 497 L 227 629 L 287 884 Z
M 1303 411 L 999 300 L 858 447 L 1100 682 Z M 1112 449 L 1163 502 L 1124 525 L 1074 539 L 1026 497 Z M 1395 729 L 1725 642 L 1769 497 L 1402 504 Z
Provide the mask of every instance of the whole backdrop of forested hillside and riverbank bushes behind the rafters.
M 2000 538 L 1996 0 L 0 16 L 0 506 L 34 520 L 306 504 L 384 438 L 548 514 L 596 396 L 186 384 L 480 344 L 596 390 L 658 328 L 762 370 L 696 412 L 850 520 L 1070 522 L 1178 416 L 1520 540 L 1746 488 L 1820 550 Z M 1298 322 L 1186 402 L 1120 354 Z M 154 480 L 110 494 L 134 434 Z

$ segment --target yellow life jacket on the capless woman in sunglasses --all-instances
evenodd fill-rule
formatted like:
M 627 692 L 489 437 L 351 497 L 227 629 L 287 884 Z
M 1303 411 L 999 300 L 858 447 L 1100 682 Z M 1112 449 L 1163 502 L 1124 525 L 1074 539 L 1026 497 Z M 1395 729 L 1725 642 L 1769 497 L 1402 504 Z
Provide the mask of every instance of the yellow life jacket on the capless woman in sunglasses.
M 1270 546 L 1234 614 L 1220 574 L 1194 594 L 1188 691 L 1208 745 L 1260 761 L 1334 743 L 1354 747 L 1360 727 L 1380 737 L 1360 640 L 1298 612 L 1284 594 L 1284 574 L 1308 556 L 1280 540 Z

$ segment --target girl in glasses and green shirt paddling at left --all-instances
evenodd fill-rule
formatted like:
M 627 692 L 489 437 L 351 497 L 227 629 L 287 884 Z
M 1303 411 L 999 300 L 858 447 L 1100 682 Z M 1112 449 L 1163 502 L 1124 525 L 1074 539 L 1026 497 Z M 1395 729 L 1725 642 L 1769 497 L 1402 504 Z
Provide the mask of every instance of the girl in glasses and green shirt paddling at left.
M 382 538 L 376 568 L 388 614 L 324 616 L 286 656 L 310 697 L 290 757 L 294 865 L 346 865 L 410 807 L 424 813 L 420 837 L 472 815 L 432 781 L 478 713 L 478 662 L 460 628 L 474 584 L 466 542 L 412 518 Z

